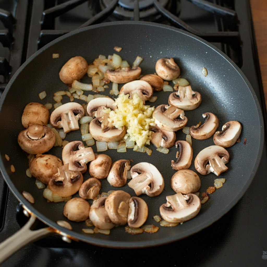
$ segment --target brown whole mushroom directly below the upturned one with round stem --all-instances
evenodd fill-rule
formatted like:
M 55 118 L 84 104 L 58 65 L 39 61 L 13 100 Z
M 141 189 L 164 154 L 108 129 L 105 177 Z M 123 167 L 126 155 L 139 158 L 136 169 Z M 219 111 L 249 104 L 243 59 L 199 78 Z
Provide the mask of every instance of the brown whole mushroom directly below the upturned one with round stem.
M 48 184 L 50 177 L 58 172 L 57 168 L 62 166 L 62 161 L 53 155 L 41 155 L 34 158 L 30 164 L 30 173 L 33 177 L 44 184 Z

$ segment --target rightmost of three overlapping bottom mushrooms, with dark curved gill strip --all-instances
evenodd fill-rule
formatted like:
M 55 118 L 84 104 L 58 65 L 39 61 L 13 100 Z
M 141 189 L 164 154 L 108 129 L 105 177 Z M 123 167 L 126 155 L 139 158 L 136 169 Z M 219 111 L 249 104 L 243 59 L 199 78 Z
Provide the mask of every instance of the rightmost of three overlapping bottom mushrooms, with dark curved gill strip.
M 147 203 L 142 198 L 131 197 L 128 200 L 128 205 L 128 226 L 133 228 L 141 227 L 147 220 Z

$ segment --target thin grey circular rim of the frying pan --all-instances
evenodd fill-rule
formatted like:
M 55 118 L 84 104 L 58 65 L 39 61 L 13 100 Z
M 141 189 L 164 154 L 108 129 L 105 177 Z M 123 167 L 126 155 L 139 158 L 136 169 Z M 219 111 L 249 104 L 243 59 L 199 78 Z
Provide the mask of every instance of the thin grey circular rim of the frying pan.
M 42 47 L 41 49 L 39 49 L 31 57 L 29 57 L 28 60 L 26 60 L 22 64 L 22 66 L 18 69 L 18 71 L 14 74 L 14 76 L 11 78 L 10 82 L 8 83 L 8 85 L 7 85 L 5 91 L 4 91 L 4 93 L 0 99 L 0 111 L 2 109 L 2 105 L 4 103 L 4 100 L 5 100 L 7 93 L 9 91 L 9 88 L 11 87 L 11 84 L 13 84 L 13 82 L 17 78 L 17 76 L 21 73 L 21 71 L 25 68 L 25 66 L 29 64 L 30 61 L 32 61 L 35 57 L 37 57 L 40 53 L 42 53 L 44 50 L 46 50 L 47 48 L 49 48 L 53 44 L 55 44 L 61 40 L 64 40 L 65 38 L 68 38 L 69 36 L 72 36 L 72 35 L 75 35 L 79 32 L 84 32 L 84 31 L 87 31 L 90 29 L 95 29 L 95 28 L 100 28 L 100 27 L 102 28 L 102 27 L 107 27 L 110 25 L 132 25 L 132 24 L 153 26 L 153 27 L 157 27 L 157 28 L 167 28 L 169 30 L 173 30 L 175 32 L 184 34 L 186 36 L 194 38 L 195 40 L 207 45 L 210 49 L 213 49 L 220 56 L 222 56 L 226 61 L 228 61 L 232 65 L 232 67 L 237 71 L 237 73 L 242 77 L 245 84 L 248 86 L 250 93 L 251 93 L 251 95 L 254 99 L 254 102 L 256 104 L 256 108 L 257 108 L 258 116 L 259 116 L 259 121 L 260 121 L 260 125 L 261 125 L 260 142 L 259 142 L 258 154 L 257 154 L 257 159 L 256 159 L 257 163 L 254 165 L 249 179 L 243 185 L 243 187 L 239 190 L 239 192 L 235 195 L 235 197 L 232 199 L 232 201 L 227 206 L 225 206 L 224 209 L 222 209 L 220 212 L 216 213 L 215 214 L 216 216 L 214 215 L 213 217 L 209 217 L 207 220 L 203 221 L 202 223 L 198 224 L 197 226 L 194 226 L 194 227 L 192 227 L 186 231 L 183 231 L 182 234 L 179 233 L 179 234 L 173 235 L 171 237 L 159 238 L 156 240 L 148 240 L 148 241 L 130 241 L 129 242 L 129 241 L 114 241 L 114 240 L 110 241 L 110 240 L 95 239 L 95 238 L 90 238 L 90 237 L 85 238 L 85 235 L 83 235 L 83 234 L 79 234 L 77 232 L 73 232 L 73 231 L 67 230 L 63 227 L 58 226 L 55 222 L 51 221 L 50 219 L 48 219 L 44 215 L 42 215 L 39 211 L 35 210 L 35 208 L 32 205 L 29 205 L 29 203 L 26 201 L 26 199 L 24 199 L 22 197 L 22 194 L 17 190 L 17 188 L 14 186 L 11 179 L 9 178 L 9 175 L 6 172 L 6 169 L 4 167 L 3 160 L 1 157 L 1 160 L 0 160 L 1 173 L 2 173 L 3 178 L 5 179 L 6 183 L 8 184 L 10 190 L 16 196 L 18 201 L 23 203 L 31 212 L 33 212 L 33 214 L 36 215 L 36 217 L 40 221 L 44 222 L 46 225 L 48 225 L 50 227 L 58 229 L 59 231 L 62 231 L 66 234 L 74 236 L 75 238 L 77 238 L 81 241 L 84 241 L 84 242 L 87 242 L 87 243 L 90 243 L 93 245 L 104 246 L 104 247 L 109 247 L 109 248 L 147 248 L 147 247 L 152 247 L 152 246 L 164 245 L 164 244 L 167 244 L 170 242 L 178 241 L 179 239 L 188 237 L 190 235 L 193 235 L 193 234 L 203 230 L 204 228 L 210 226 L 215 221 L 220 219 L 223 215 L 225 215 L 239 201 L 239 199 L 241 199 L 242 195 L 248 189 L 250 183 L 252 182 L 252 180 L 254 178 L 254 175 L 256 174 L 256 171 L 257 171 L 258 166 L 260 164 L 262 151 L 263 151 L 263 147 L 260 146 L 260 144 L 263 143 L 263 140 L 264 140 L 264 127 L 263 127 L 264 124 L 263 124 L 263 117 L 262 117 L 262 113 L 261 113 L 261 108 L 260 108 L 260 104 L 259 104 L 259 101 L 257 99 L 256 93 L 254 92 L 252 86 L 250 85 L 248 79 L 245 77 L 244 73 L 238 68 L 238 66 L 228 56 L 226 56 L 223 52 L 221 52 L 218 48 L 216 48 L 215 46 L 213 46 L 209 42 L 207 42 L 207 41 L 205 41 L 205 40 L 203 40 L 203 39 L 201 39 L 201 38 L 199 38 L 199 37 L 197 37 L 191 33 L 187 33 L 183 30 L 174 28 L 172 26 L 161 25 L 161 24 L 157 24 L 157 23 L 153 23 L 153 22 L 119 21 L 119 22 L 101 23 L 101 24 L 97 24 L 97 25 L 93 25 L 93 26 L 88 26 L 88 27 L 85 27 L 83 29 L 74 30 L 73 32 L 67 33 L 64 36 L 61 36 L 61 37 L 55 39 L 54 41 L 50 42 L 49 44 L 47 44 L 44 47 Z M 229 208 L 229 206 L 230 206 L 230 208 Z M 46 219 L 44 219 L 43 217 L 45 217 Z M 180 236 L 180 237 L 178 237 L 178 236 Z

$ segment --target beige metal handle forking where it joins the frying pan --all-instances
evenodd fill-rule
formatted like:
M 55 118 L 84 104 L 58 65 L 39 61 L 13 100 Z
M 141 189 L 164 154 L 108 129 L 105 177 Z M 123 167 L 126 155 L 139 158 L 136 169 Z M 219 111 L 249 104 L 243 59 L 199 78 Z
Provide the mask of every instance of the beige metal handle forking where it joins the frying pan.
M 0 244 L 0 264 L 23 246 L 54 233 L 54 229 L 51 227 L 31 230 L 30 228 L 33 226 L 36 219 L 37 218 L 31 214 L 29 221 L 20 230 Z

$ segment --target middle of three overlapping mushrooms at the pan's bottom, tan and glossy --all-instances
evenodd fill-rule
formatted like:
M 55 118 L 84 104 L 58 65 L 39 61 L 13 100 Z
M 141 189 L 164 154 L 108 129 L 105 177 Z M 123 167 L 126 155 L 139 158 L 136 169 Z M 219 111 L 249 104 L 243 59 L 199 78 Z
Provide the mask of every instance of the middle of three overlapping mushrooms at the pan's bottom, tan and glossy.
M 125 225 L 127 223 L 129 205 L 127 204 L 131 196 L 122 191 L 112 192 L 105 201 L 105 209 L 110 220 L 117 225 Z

